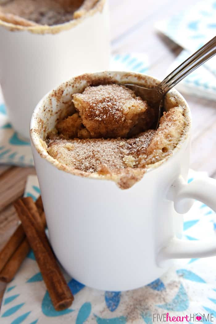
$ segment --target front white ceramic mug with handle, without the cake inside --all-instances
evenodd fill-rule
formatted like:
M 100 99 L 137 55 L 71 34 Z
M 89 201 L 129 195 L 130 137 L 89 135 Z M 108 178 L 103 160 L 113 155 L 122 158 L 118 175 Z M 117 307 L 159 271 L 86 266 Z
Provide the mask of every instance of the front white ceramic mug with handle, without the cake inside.
M 148 87 L 158 82 L 150 76 L 126 72 L 91 75 L 97 80 L 104 77 Z M 41 139 L 46 138 L 56 119 L 70 110 L 72 94 L 86 85 L 85 80 L 72 78 L 48 93 L 30 123 L 49 237 L 66 271 L 87 286 L 123 291 L 160 277 L 171 259 L 216 255 L 216 240 L 181 240 L 180 214 L 189 210 L 192 198 L 216 210 L 216 180 L 195 179 L 187 184 L 191 117 L 186 101 L 176 90 L 166 95 L 166 101 L 175 96 L 186 106 L 187 131 L 173 154 L 130 189 L 121 190 L 103 176 L 95 179 L 94 174 L 68 173 L 68 168 L 48 155 Z M 56 97 L 60 91 L 62 95 Z

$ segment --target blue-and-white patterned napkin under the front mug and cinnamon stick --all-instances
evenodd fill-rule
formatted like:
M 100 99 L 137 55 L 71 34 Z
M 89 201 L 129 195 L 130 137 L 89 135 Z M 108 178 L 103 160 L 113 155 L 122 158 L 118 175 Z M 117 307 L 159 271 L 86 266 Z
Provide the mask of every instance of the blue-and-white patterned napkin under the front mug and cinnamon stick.
M 188 182 L 198 176 L 206 177 L 206 174 L 190 170 Z M 25 195 L 36 199 L 39 192 L 37 177 L 29 176 Z M 215 229 L 215 213 L 196 201 L 185 215 L 183 239 L 215 237 Z M 153 324 L 160 323 L 161 316 L 172 319 L 186 315 L 189 321 L 183 319 L 182 323 L 215 323 L 215 273 L 216 257 L 180 260 L 153 283 L 127 292 L 91 289 L 65 274 L 74 302 L 70 308 L 57 312 L 31 251 L 6 287 L 0 323 Z M 161 322 L 172 321 L 168 317 Z

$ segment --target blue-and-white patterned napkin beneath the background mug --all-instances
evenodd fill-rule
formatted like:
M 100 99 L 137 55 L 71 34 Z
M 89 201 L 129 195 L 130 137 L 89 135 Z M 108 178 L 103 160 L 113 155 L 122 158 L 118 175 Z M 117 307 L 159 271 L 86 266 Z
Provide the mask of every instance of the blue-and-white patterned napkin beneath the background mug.
M 131 53 L 113 55 L 110 60 L 111 70 L 145 73 L 148 59 L 144 54 Z M 0 91 L 0 163 L 33 166 L 30 143 L 22 139 L 11 127 L 6 115 L 6 108 Z

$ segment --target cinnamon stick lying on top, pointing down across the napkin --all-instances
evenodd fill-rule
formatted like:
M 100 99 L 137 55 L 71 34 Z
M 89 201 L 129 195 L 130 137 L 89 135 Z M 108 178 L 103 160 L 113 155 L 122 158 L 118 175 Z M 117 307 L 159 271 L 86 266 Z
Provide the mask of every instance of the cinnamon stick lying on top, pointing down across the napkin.
M 42 223 L 39 221 L 38 212 L 35 212 L 33 207 L 30 212 L 25 206 L 25 200 L 27 198 L 18 200 L 14 206 L 22 222 L 28 242 L 34 251 L 53 306 L 57 311 L 63 310 L 71 306 L 74 297 L 60 271 Z

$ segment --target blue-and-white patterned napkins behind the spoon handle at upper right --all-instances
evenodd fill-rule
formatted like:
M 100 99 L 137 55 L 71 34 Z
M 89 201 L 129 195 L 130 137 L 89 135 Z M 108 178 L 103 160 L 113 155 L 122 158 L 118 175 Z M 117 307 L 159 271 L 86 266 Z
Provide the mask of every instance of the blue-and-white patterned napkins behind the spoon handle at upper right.
M 180 12 L 171 19 L 160 21 L 156 28 L 185 50 L 171 66 L 171 72 L 191 53 L 197 51 L 216 34 L 216 2 L 204 0 Z M 176 89 L 216 100 L 216 56 L 182 80 Z

